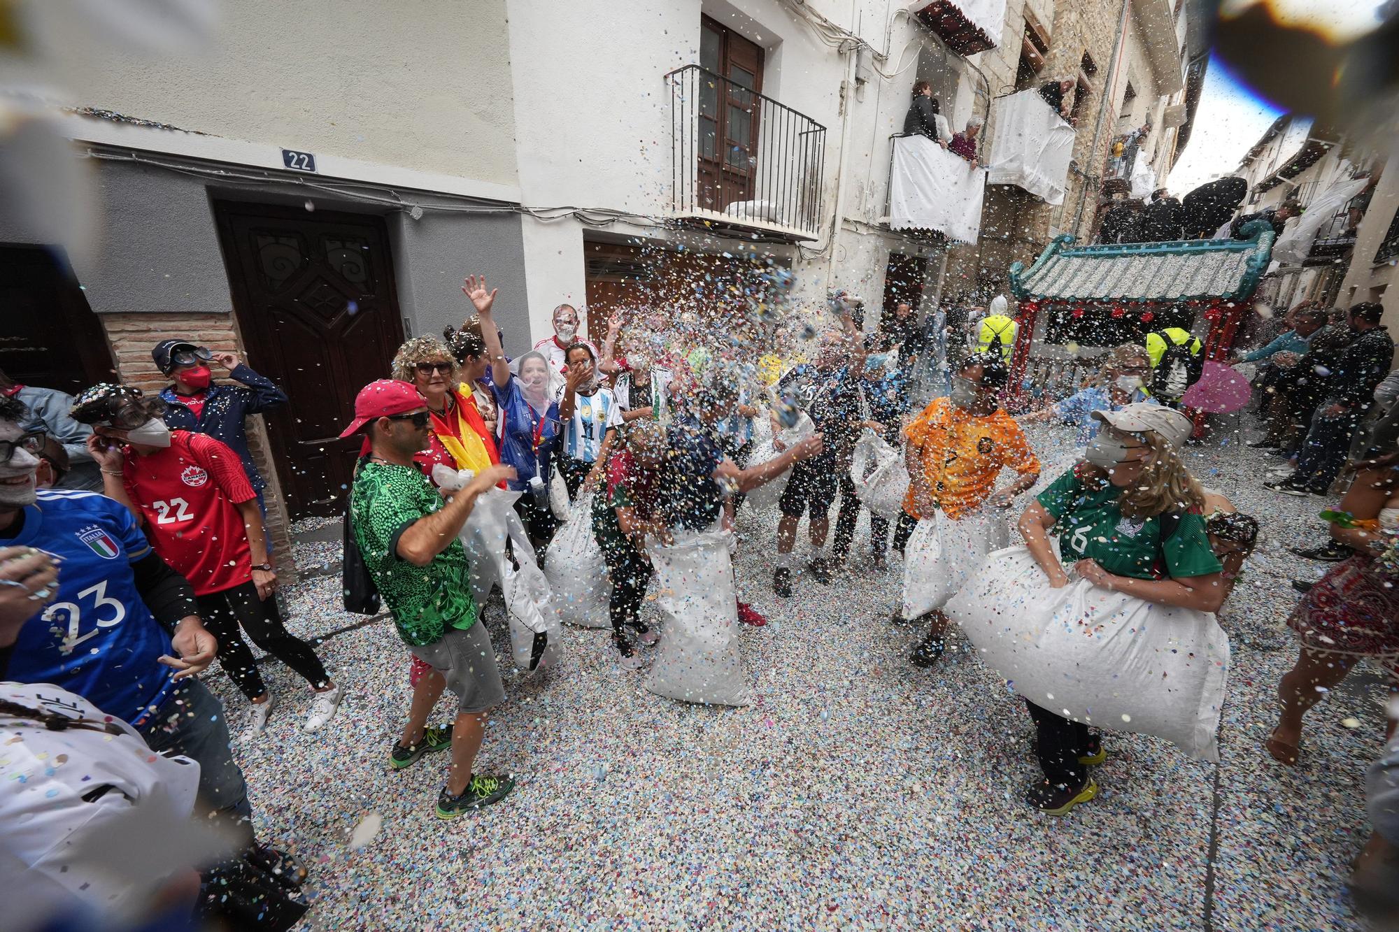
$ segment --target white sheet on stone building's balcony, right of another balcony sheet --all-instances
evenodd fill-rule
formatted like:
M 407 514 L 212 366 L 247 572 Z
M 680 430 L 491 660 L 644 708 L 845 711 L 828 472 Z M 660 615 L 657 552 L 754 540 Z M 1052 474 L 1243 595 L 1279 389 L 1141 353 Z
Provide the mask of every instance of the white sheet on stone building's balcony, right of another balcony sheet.
M 1046 204 L 1062 204 L 1073 127 L 1053 112 L 1039 91 L 1020 91 L 996 101 L 986 182 L 1017 185 Z

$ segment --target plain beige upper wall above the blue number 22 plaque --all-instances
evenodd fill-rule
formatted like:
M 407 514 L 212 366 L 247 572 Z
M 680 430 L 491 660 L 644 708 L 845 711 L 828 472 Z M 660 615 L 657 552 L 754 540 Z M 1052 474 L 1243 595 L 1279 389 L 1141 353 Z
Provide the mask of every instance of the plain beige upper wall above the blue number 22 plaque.
M 36 56 L 0 71 L 74 106 L 318 155 L 513 185 L 504 0 L 236 0 L 207 48 L 137 52 L 32 3 Z

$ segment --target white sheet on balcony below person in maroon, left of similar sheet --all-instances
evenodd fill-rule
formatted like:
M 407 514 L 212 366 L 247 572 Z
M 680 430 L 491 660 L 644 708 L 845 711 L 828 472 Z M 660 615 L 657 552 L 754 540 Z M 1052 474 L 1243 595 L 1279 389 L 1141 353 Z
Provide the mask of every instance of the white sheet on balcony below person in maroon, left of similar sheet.
M 953 155 L 926 136 L 894 140 L 888 172 L 888 225 L 936 230 L 949 239 L 977 242 L 986 171 Z

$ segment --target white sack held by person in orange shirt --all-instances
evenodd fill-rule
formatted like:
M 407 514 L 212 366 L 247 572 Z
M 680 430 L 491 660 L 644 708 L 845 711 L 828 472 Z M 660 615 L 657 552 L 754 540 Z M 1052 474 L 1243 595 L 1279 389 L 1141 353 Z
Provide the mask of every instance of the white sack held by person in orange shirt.
M 918 522 L 904 549 L 904 617 L 942 609 L 1010 533 L 1003 512 L 982 508 L 953 521 L 942 509 Z

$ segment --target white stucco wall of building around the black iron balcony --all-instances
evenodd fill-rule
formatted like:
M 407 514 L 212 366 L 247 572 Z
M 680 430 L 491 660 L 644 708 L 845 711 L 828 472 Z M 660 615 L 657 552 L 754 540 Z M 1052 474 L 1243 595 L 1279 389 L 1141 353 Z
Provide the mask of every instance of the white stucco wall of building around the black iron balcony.
M 849 220 L 876 223 L 884 211 L 890 134 L 902 129 L 909 90 L 919 74 L 916 39 L 932 43 L 891 0 L 807 0 L 810 8 L 856 31 L 877 49 L 890 80 L 873 73 L 851 98 L 845 158 Z M 890 243 L 900 239 L 863 227 L 827 231 L 839 195 L 848 57 L 778 0 L 676 0 L 623 14 L 606 0 L 509 0 L 509 57 L 513 78 L 519 183 L 530 207 L 572 204 L 638 214 L 609 232 L 665 235 L 644 218 L 672 207 L 672 112 L 666 73 L 700 59 L 700 20 L 709 15 L 764 48 L 762 94 L 825 130 L 820 255 L 793 255 L 796 299 L 824 306 L 827 288 L 860 292 L 877 309 Z M 964 81 L 953 74 L 949 87 Z M 957 91 L 943 112 L 965 120 L 971 104 Z M 550 312 L 583 298 L 583 224 L 525 221 L 530 320 L 550 332 Z M 722 248 L 722 246 L 720 246 Z M 908 249 L 914 252 L 914 249 Z M 832 262 L 834 256 L 834 262 Z

